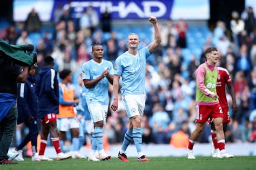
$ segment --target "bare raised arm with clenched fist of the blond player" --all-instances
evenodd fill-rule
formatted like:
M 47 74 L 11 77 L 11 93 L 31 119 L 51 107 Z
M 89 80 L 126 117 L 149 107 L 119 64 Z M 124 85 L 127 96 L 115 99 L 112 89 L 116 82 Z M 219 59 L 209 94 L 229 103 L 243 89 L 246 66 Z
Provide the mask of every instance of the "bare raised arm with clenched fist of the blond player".
M 157 18 L 156 17 L 150 17 L 149 21 L 154 26 L 154 40 L 149 44 L 149 51 L 152 53 L 158 45 L 161 43 L 161 35 L 157 24 Z

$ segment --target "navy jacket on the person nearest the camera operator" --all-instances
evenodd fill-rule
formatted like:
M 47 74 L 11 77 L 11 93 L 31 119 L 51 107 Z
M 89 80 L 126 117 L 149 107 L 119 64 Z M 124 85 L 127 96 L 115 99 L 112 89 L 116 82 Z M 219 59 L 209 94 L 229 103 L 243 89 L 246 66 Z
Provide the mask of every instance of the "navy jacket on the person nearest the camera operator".
M 27 117 L 38 119 L 38 97 L 36 95 L 36 78 L 29 76 L 25 83 L 18 83 L 18 121 L 23 123 Z

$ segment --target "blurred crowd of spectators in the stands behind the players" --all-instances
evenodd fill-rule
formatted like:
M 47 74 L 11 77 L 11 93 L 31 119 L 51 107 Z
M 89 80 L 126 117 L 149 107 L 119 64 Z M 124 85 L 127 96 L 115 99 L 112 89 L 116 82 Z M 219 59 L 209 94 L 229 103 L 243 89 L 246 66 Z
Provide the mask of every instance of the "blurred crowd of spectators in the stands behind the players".
M 212 31 L 207 26 L 190 26 L 182 19 L 166 22 L 159 19 L 162 43 L 146 65 L 143 142 L 170 144 L 172 140 L 175 145 L 179 143 L 177 140 L 190 136 L 196 120 L 194 71 L 204 62 L 204 50 L 210 46 L 218 48 L 219 66 L 230 72 L 237 98 L 238 112 L 233 114 L 230 110 L 232 121 L 228 124 L 225 140 L 227 143 L 256 141 L 254 13 L 251 7 L 241 15 L 234 11 L 230 23 L 218 21 Z M 93 40 L 103 43 L 104 59 L 113 63 L 127 50 L 126 37 L 130 32 L 138 33 L 140 47 L 152 40 L 153 29 L 149 26 L 114 28 L 110 13 L 106 11 L 103 18 L 100 20 L 90 6 L 78 20 L 72 19 L 69 8 L 59 6 L 55 11 L 55 22 L 44 28 L 36 11 L 32 10 L 26 22 L 2 27 L 0 38 L 10 44 L 34 44 L 38 53 L 38 70 L 43 66 L 43 58 L 51 55 L 55 58 L 55 69 L 70 69 L 74 73 L 73 84 L 76 86 L 82 64 L 92 59 Z M 112 101 L 112 88 L 109 95 Z M 229 94 L 227 99 L 231 104 Z M 104 135 L 110 144 L 122 144 L 128 122 L 122 102 L 117 112 L 109 110 Z M 21 127 L 17 128 L 20 132 Z M 210 135 L 210 126 L 206 126 L 198 142 L 210 142 Z M 19 138 L 19 133 L 16 133 L 16 142 Z

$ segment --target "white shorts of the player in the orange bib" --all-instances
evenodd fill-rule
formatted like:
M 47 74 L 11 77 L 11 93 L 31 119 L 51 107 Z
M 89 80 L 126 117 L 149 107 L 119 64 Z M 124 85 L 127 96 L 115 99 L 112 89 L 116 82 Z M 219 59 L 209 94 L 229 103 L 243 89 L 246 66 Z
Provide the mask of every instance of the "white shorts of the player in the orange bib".
M 58 118 L 57 128 L 59 131 L 67 132 L 71 128 L 79 128 L 79 122 L 77 118 Z

